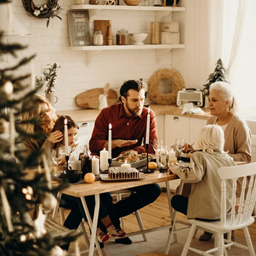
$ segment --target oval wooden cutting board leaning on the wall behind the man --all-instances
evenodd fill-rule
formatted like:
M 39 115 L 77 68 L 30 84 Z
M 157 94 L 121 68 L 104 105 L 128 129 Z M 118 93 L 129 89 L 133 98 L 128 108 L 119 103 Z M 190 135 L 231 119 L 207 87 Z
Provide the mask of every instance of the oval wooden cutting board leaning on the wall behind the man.
M 79 93 L 76 96 L 76 104 L 81 108 L 95 108 L 99 109 L 99 95 L 103 94 L 103 88 L 95 88 Z M 107 96 L 108 106 L 118 102 L 117 93 L 109 89 Z

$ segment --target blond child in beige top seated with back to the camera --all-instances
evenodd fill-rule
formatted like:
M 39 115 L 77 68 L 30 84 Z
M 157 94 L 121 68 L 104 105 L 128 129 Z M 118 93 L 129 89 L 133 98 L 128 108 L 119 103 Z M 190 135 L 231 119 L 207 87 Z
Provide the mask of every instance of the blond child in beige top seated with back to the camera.
M 220 219 L 221 179 L 217 169 L 236 165 L 224 152 L 224 132 L 219 125 L 206 125 L 200 132 L 200 150 L 193 152 L 188 167 L 172 166 L 170 170 L 184 182 L 191 183 L 189 197 L 175 195 L 173 209 L 187 215 L 188 219 Z M 232 184 L 227 184 L 227 196 L 232 195 Z M 227 202 L 227 209 L 230 209 Z

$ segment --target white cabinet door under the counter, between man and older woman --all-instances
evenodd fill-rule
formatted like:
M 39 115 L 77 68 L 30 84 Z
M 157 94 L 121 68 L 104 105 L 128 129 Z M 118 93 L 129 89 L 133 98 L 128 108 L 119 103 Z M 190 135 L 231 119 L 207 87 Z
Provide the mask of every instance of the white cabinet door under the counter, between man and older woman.
M 175 138 L 185 138 L 189 141 L 189 118 L 184 116 L 164 116 L 164 145 L 175 143 Z

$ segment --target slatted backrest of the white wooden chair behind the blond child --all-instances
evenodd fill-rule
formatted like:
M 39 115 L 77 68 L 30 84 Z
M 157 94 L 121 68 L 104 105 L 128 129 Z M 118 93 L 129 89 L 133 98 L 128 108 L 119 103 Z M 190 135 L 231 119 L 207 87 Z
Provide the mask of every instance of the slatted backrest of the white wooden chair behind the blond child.
M 217 170 L 221 179 L 221 225 L 239 225 L 252 216 L 256 200 L 256 163 L 237 166 L 221 167 Z M 236 195 L 237 179 L 242 178 L 243 184 L 239 203 Z M 226 185 L 232 179 L 232 197 L 227 198 Z M 246 181 L 249 180 L 248 186 Z M 230 200 L 231 209 L 226 209 L 226 202 Z M 238 211 L 237 211 L 238 207 Z M 230 211 L 229 211 L 230 210 Z M 230 221 L 227 222 L 227 218 Z

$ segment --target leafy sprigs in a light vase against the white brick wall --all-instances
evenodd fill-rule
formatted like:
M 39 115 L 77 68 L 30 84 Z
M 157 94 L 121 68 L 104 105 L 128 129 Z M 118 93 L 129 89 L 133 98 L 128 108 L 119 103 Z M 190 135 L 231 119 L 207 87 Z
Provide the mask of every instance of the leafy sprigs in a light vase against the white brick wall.
M 60 68 L 56 63 L 48 64 L 44 69 L 44 77 L 36 77 L 36 84 L 40 87 L 45 86 L 45 98 L 54 106 L 58 98 L 54 95 L 54 86 L 56 83 L 57 69 Z M 55 100 L 54 100 L 55 98 Z

